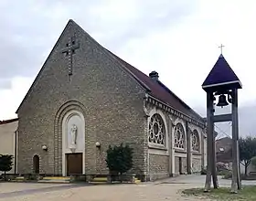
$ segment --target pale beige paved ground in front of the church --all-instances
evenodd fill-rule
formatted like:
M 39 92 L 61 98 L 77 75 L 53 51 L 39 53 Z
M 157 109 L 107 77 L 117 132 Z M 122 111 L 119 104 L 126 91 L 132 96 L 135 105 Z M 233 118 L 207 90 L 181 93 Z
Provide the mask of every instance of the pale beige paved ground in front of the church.
M 180 195 L 180 190 L 203 187 L 205 176 L 182 175 L 154 183 L 140 185 L 53 185 L 31 183 L 0 183 L 0 201 L 197 201 Z M 220 186 L 229 186 L 229 180 L 219 179 Z M 256 185 L 255 181 L 243 185 Z

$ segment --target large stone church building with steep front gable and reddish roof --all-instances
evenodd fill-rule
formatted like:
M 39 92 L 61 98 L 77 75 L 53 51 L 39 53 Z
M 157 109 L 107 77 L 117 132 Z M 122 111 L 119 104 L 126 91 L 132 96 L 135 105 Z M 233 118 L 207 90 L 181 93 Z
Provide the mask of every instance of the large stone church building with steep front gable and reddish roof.
M 69 20 L 18 115 L 19 174 L 101 175 L 109 145 L 133 147 L 144 180 L 200 172 L 205 122 L 150 76 Z

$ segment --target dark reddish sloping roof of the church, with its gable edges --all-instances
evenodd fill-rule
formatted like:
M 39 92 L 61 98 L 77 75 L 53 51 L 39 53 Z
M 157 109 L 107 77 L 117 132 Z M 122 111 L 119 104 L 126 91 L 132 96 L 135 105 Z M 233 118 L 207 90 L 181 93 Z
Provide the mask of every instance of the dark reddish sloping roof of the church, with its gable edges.
M 67 26 L 70 23 L 72 23 L 74 26 L 79 26 L 71 19 L 69 20 L 69 23 L 67 24 Z M 54 48 L 59 43 L 59 40 L 62 37 L 62 35 L 64 34 L 66 27 L 64 28 L 62 34 L 60 35 L 57 43 L 54 46 Z M 150 95 L 152 95 L 153 97 L 155 97 L 158 100 L 162 100 L 169 106 L 172 106 L 173 108 L 175 108 L 177 111 L 181 111 L 181 112 L 187 114 L 187 116 L 190 116 L 200 122 L 204 122 L 202 117 L 199 114 L 197 114 L 196 111 L 193 111 L 183 100 L 179 99 L 174 92 L 172 92 L 167 87 L 165 87 L 165 85 L 161 81 L 155 81 L 155 80 L 149 78 L 147 75 L 145 75 L 139 69 L 134 68 L 132 65 L 128 64 L 122 58 L 117 57 L 108 49 L 103 48 L 94 38 L 92 38 L 81 27 L 80 27 L 80 29 L 91 39 L 91 41 L 93 41 L 98 46 L 98 48 L 101 48 L 101 51 L 103 51 L 108 57 L 114 58 L 115 60 L 117 60 L 121 64 L 121 68 L 126 69 L 126 71 L 129 72 L 129 74 L 133 77 L 133 79 L 137 80 Z M 51 52 L 54 50 L 54 48 L 51 50 Z M 48 58 L 49 58 L 49 56 L 48 56 Z M 47 61 L 45 61 L 45 63 L 46 62 Z M 45 64 L 43 65 L 42 69 L 40 69 L 39 73 L 37 74 L 37 78 L 39 77 L 39 74 L 44 69 L 44 66 L 45 66 Z M 27 96 L 28 96 L 29 92 L 31 91 L 31 89 L 33 88 L 33 85 L 36 83 L 37 78 L 34 80 L 32 86 L 27 91 L 27 95 L 24 98 L 24 100 L 27 99 Z M 23 101 L 21 102 L 20 106 L 22 105 Z M 19 108 L 20 108 L 20 106 L 19 106 Z M 17 109 L 16 113 L 18 112 L 19 108 Z

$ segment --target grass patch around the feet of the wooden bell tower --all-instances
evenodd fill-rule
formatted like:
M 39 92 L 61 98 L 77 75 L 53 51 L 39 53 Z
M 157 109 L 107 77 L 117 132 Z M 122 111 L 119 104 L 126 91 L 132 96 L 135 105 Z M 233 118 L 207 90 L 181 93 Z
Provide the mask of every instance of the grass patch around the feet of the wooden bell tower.
M 186 196 L 198 196 L 204 198 L 210 198 L 214 200 L 256 200 L 256 186 L 243 186 L 242 190 L 238 194 L 231 194 L 230 188 L 220 187 L 219 189 L 211 189 L 210 192 L 205 193 L 204 188 L 191 188 L 182 191 L 182 194 Z

